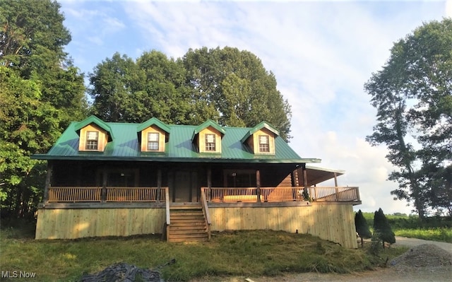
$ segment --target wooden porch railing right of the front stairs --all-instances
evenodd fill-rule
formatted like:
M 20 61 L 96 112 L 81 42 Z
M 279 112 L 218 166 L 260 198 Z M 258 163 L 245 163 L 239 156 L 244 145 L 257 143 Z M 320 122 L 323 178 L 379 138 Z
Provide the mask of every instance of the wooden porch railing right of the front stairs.
M 202 187 L 212 202 L 257 202 L 257 188 Z M 359 201 L 358 187 L 307 187 L 310 199 L 303 197 L 304 187 L 261 187 L 261 202 L 271 201 Z M 210 194 L 209 194 L 210 193 Z

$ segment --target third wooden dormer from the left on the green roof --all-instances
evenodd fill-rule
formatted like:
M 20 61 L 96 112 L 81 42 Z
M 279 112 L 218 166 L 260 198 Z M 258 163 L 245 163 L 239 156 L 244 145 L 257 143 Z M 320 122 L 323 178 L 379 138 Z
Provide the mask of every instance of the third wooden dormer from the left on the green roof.
M 220 124 L 209 119 L 196 127 L 191 141 L 196 144 L 199 153 L 221 153 L 221 139 L 225 133 Z

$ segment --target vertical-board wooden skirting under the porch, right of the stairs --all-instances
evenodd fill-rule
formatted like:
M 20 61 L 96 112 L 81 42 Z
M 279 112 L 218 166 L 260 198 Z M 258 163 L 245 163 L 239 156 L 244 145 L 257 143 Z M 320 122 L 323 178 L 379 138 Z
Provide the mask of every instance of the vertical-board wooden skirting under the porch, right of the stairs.
M 357 248 L 352 205 L 240 206 L 209 208 L 212 231 L 285 230 L 307 233 L 343 247 Z

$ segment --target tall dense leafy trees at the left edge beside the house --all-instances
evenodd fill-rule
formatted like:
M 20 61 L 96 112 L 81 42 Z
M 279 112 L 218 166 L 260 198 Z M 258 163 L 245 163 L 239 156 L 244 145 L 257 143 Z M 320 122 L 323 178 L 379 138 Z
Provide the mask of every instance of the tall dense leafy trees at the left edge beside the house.
M 44 153 L 85 114 L 83 75 L 64 52 L 71 35 L 59 4 L 0 0 L 0 198 L 25 216 L 42 195 Z

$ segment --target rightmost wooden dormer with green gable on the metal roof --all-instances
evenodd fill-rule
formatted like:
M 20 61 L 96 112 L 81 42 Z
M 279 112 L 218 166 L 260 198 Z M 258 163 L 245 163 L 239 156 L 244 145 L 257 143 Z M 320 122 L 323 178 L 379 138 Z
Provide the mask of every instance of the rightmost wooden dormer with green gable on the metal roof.
M 261 122 L 242 138 L 242 143 L 251 148 L 256 155 L 275 155 L 275 138 L 279 131 L 268 122 Z

